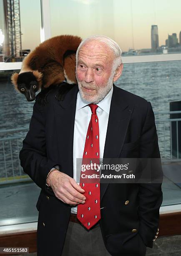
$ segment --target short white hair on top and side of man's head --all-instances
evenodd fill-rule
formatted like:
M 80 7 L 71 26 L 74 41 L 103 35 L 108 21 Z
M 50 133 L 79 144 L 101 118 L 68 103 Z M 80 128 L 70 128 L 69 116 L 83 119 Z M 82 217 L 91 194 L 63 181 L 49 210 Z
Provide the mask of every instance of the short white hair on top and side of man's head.
M 116 69 L 123 63 L 121 58 L 122 51 L 118 46 L 118 44 L 107 36 L 94 35 L 94 36 L 89 36 L 85 38 L 83 41 L 81 41 L 76 52 L 76 69 L 77 69 L 78 53 L 80 51 L 80 48 L 87 42 L 94 41 L 94 40 L 105 43 L 107 46 L 109 46 L 110 50 L 113 52 L 115 59 L 113 60 L 112 73 L 114 74 Z

